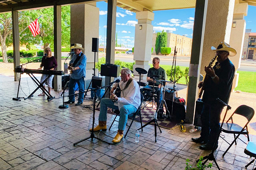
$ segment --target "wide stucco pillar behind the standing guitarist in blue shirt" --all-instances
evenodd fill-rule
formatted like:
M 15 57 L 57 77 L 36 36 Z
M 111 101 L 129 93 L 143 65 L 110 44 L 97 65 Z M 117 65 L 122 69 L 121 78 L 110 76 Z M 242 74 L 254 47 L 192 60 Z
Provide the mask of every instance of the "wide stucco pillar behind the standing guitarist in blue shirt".
M 82 52 L 87 57 L 86 78 L 93 76 L 94 52 L 92 52 L 92 38 L 99 38 L 99 8 L 95 4 L 71 5 L 70 8 L 70 43 L 80 43 L 85 49 Z M 96 61 L 98 53 L 96 52 Z M 98 72 L 95 72 L 96 76 Z

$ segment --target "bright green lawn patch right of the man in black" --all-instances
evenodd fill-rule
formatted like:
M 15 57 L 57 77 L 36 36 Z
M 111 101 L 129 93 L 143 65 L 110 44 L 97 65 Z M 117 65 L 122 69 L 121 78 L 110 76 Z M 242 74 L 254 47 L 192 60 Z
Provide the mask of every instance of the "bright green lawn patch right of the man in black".
M 239 73 L 239 79 L 235 90 L 256 93 L 256 72 L 237 71 L 237 73 Z

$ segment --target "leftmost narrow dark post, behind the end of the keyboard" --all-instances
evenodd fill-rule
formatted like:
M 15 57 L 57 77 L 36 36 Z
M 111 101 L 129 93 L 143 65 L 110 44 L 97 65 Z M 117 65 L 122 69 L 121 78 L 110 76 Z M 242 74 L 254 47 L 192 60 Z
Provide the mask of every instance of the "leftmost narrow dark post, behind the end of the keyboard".
M 19 39 L 18 11 L 12 10 L 12 39 L 13 39 L 13 65 L 20 65 L 20 39 Z M 19 81 L 19 75 L 14 73 L 14 81 Z

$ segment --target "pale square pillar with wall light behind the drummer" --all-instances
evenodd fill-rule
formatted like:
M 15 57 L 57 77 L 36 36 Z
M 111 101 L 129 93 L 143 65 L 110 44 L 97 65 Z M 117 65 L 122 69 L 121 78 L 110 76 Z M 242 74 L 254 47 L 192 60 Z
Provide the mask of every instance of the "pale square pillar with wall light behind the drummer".
M 151 60 L 151 48 L 153 39 L 153 25 L 154 13 L 151 11 L 136 12 L 136 19 L 138 24 L 135 25 L 135 40 L 134 40 L 134 56 L 135 64 L 133 71 L 135 78 L 139 78 L 138 72 L 135 68 L 140 67 L 148 71 L 148 65 Z M 161 62 L 160 62 L 161 64 Z M 145 80 L 146 74 L 142 74 L 141 79 Z

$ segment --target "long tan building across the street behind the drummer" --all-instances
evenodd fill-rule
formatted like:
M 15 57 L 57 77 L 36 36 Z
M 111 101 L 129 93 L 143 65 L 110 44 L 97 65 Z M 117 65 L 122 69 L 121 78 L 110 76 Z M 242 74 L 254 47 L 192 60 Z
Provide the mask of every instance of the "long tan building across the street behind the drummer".
M 156 34 L 157 33 L 153 33 L 153 42 L 152 42 L 153 53 L 152 54 L 156 54 L 156 51 L 155 51 Z M 176 46 L 177 55 L 190 56 L 191 47 L 192 47 L 191 44 L 192 44 L 191 38 L 188 38 L 184 35 L 181 36 L 178 34 L 168 33 L 168 31 L 167 31 L 167 47 L 171 47 L 171 49 L 172 49 L 172 52 L 169 55 L 173 55 L 174 48 Z M 159 53 L 159 55 L 161 55 L 161 53 Z

